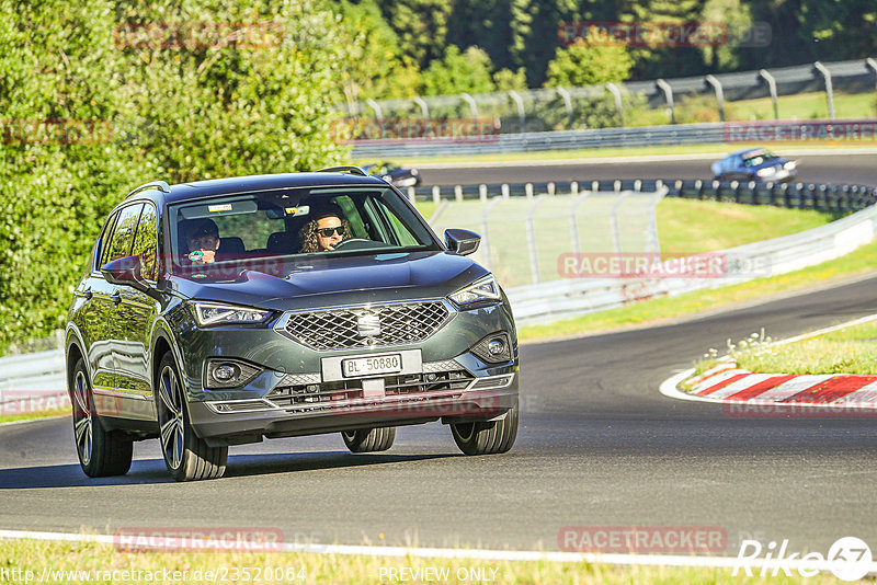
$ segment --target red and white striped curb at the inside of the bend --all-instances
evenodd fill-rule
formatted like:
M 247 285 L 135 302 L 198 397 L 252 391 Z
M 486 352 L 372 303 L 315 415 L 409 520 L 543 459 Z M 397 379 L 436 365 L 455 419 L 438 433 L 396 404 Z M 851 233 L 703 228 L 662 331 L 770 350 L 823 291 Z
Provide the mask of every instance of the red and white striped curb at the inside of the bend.
M 851 325 L 874 321 L 869 316 L 848 323 L 798 335 L 776 343 L 783 345 Z M 877 375 L 758 374 L 738 368 L 732 358 L 695 376 L 691 368 L 664 380 L 661 393 L 675 399 L 726 404 L 801 406 L 861 412 L 877 416 Z M 684 386 L 687 390 L 683 390 Z

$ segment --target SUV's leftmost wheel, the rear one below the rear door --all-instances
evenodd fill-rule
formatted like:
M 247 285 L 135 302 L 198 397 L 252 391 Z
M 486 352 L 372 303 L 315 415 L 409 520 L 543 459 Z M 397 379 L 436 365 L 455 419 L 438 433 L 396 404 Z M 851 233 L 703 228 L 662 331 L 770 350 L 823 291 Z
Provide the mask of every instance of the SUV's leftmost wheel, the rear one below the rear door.
M 73 444 L 82 471 L 89 478 L 124 475 L 130 469 L 134 441 L 118 432 L 104 429 L 82 359 L 73 366 L 71 383 Z

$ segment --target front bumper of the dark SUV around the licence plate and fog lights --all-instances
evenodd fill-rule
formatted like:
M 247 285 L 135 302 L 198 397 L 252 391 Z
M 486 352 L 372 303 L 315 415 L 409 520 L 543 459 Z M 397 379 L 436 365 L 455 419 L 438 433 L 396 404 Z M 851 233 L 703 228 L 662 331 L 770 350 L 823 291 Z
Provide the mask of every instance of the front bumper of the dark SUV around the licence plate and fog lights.
M 505 303 L 460 312 L 420 343 L 373 349 L 317 352 L 273 329 L 189 331 L 184 345 L 194 351 L 184 353 L 183 378 L 190 421 L 210 445 L 437 420 L 487 421 L 517 404 L 517 340 Z M 471 349 L 497 332 L 508 334 L 512 359 L 489 364 Z M 232 347 L 238 351 L 228 351 Z M 402 355 L 401 371 L 340 374 L 341 359 L 395 353 Z M 206 389 L 205 362 L 212 359 L 242 360 L 260 374 L 242 388 Z

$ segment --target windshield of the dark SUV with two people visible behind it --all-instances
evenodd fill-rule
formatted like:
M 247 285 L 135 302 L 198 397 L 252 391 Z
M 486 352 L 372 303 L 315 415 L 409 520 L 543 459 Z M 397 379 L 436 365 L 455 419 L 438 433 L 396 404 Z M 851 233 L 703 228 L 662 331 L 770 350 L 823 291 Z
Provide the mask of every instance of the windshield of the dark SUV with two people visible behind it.
M 283 190 L 186 202 L 169 209 L 173 272 L 319 254 L 441 249 L 389 188 Z M 259 269 L 255 266 L 255 269 Z M 195 271 L 197 272 L 197 271 Z

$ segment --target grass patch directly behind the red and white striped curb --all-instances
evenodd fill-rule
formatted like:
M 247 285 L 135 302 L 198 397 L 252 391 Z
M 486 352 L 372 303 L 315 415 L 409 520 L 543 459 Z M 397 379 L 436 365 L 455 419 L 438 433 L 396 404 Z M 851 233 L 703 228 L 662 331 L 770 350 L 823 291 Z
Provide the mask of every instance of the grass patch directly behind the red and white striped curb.
M 732 355 L 741 368 L 763 374 L 877 374 L 877 322 L 788 344 L 744 344 Z

